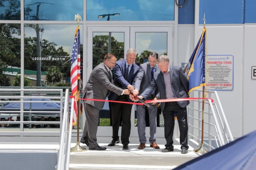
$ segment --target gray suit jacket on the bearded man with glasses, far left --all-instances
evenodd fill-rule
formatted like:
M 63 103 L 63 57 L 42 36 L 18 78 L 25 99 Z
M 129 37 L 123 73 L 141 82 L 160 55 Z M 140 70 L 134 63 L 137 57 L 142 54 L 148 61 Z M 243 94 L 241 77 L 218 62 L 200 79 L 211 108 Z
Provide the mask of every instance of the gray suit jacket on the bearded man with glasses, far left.
M 116 95 L 121 95 L 123 93 L 123 89 L 113 84 L 112 72 L 111 70 L 109 71 L 104 62 L 102 62 L 92 70 L 83 91 L 83 98 L 104 100 L 109 91 L 113 91 Z M 101 110 L 104 105 L 104 102 L 89 100 L 86 100 L 85 103 L 88 103 L 99 110 Z

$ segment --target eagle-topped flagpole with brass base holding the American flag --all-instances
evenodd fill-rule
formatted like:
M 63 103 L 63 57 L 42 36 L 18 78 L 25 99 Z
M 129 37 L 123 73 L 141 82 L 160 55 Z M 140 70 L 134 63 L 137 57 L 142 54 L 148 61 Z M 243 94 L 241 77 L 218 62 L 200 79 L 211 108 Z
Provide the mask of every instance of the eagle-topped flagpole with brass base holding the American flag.
M 75 20 L 77 20 L 77 33 L 76 34 L 78 34 L 78 29 L 79 29 L 79 20 L 81 20 L 82 21 L 82 17 L 79 15 L 79 14 L 77 14 L 77 15 L 75 15 Z M 78 56 L 78 35 L 77 35 L 77 56 Z M 78 61 L 78 63 L 77 63 L 77 66 L 78 66 L 78 76 L 77 76 L 77 85 L 78 85 L 78 87 L 77 87 L 77 98 L 75 99 L 75 100 L 77 100 L 77 140 L 76 140 L 76 146 L 74 146 L 74 147 L 72 147 L 72 148 L 70 148 L 70 151 L 71 152 L 80 152 L 80 151 L 85 151 L 86 150 L 86 148 L 84 148 L 84 147 L 81 147 L 80 146 L 80 142 L 79 142 L 79 116 L 80 116 L 80 105 L 79 105 L 79 103 L 80 103 L 80 101 L 78 100 L 78 98 L 79 98 L 79 91 L 80 91 L 80 60 L 79 60 L 80 58 L 78 58 L 77 57 L 77 61 Z

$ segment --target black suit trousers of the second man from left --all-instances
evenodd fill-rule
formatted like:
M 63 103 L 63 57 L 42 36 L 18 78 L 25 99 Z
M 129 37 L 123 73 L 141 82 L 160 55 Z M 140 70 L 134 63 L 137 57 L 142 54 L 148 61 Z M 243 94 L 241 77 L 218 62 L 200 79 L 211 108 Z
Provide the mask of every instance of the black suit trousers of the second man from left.
M 116 101 L 128 102 L 127 95 L 120 95 L 116 98 Z M 112 113 L 112 129 L 113 129 L 113 140 L 119 139 L 119 121 L 122 113 L 122 131 L 121 131 L 121 142 L 122 144 L 129 144 L 129 137 L 131 132 L 131 104 L 124 103 L 111 103 Z

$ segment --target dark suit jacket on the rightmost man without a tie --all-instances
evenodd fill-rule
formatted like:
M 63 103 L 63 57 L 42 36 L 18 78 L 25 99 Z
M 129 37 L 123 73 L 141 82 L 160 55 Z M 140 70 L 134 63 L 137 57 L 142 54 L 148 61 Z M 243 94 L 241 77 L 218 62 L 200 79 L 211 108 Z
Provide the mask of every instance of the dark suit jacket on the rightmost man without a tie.
M 175 98 L 186 98 L 188 97 L 188 79 L 183 73 L 182 68 L 178 66 L 170 67 L 170 80 L 172 85 L 172 91 Z M 160 70 L 156 71 L 154 78 L 148 88 L 141 94 L 144 98 L 150 95 L 151 91 L 157 87 L 160 93 L 160 99 L 166 99 L 165 93 L 165 83 L 164 83 L 164 73 Z M 178 105 L 182 108 L 185 108 L 189 101 L 179 101 Z M 161 103 L 161 109 L 164 110 L 165 102 Z

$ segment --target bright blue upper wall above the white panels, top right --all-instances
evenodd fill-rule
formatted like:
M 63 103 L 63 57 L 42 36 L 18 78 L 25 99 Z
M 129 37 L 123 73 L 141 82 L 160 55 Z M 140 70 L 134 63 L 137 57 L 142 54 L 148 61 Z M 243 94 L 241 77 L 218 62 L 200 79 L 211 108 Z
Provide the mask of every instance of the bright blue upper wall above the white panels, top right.
M 180 0 L 179 5 L 184 1 Z M 199 24 L 203 24 L 204 13 L 207 24 L 256 23 L 255 7 L 255 0 L 200 0 Z M 178 24 L 194 24 L 195 0 L 187 0 L 178 13 Z

